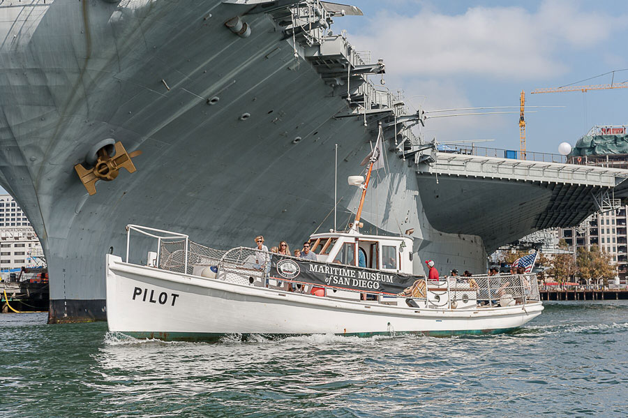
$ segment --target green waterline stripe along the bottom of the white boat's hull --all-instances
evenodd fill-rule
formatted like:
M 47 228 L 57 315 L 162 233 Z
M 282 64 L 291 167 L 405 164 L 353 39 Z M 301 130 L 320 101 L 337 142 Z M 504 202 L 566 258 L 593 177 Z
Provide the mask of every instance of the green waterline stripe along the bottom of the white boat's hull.
M 417 334 L 417 335 L 425 335 L 425 336 L 434 336 L 434 337 L 448 337 L 448 336 L 456 336 L 456 335 L 485 335 L 485 334 L 504 334 L 513 332 L 517 329 L 515 328 L 499 328 L 499 329 L 468 329 L 468 330 L 458 330 L 458 331 L 396 331 L 394 335 L 405 335 L 405 334 Z M 246 340 L 250 335 L 260 335 L 264 338 L 269 339 L 281 339 L 290 336 L 301 336 L 301 335 L 311 335 L 311 334 L 220 334 L 220 333 L 212 333 L 212 332 L 144 332 L 144 331 L 125 331 L 121 332 L 121 334 L 125 334 L 128 336 L 132 336 L 133 338 L 149 338 L 163 341 L 220 341 L 220 338 L 225 336 L 241 336 L 242 340 Z M 379 332 L 347 332 L 345 334 L 336 334 L 338 336 L 357 336 L 362 338 L 368 338 L 375 335 L 383 335 L 390 336 L 391 333 L 389 331 L 379 331 Z

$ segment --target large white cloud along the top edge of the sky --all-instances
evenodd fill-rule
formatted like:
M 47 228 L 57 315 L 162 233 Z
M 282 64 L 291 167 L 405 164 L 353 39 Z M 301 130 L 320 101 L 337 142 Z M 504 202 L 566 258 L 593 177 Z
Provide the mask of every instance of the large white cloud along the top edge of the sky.
M 521 7 L 473 7 L 461 15 L 421 8 L 413 16 L 379 13 L 364 32 L 351 34 L 358 48 L 402 76 L 482 75 L 532 80 L 560 75 L 563 48 L 593 47 L 615 30 L 621 16 L 591 13 L 566 0 L 548 0 L 530 13 Z

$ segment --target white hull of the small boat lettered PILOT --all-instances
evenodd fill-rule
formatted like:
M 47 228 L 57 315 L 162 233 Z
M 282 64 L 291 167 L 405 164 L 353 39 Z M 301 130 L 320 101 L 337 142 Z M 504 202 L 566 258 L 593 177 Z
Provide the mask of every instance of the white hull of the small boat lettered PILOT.
M 540 302 L 437 310 L 341 301 L 173 273 L 107 255 L 109 329 L 132 336 L 481 334 L 521 327 L 541 311 Z

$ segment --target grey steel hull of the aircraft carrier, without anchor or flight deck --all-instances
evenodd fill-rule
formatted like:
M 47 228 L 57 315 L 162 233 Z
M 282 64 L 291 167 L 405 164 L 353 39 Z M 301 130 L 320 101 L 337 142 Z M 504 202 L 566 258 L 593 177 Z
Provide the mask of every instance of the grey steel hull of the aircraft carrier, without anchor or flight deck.
M 50 322 L 105 319 L 105 253 L 126 251 L 128 223 L 216 248 L 252 246 L 257 234 L 297 246 L 334 227 L 334 144 L 338 227 L 350 220 L 358 193 L 345 179 L 359 174 L 376 121 L 335 118 L 347 100 L 295 60 L 269 15 L 247 15 L 248 38 L 225 27 L 249 9 L 207 0 L 0 3 L 0 184 L 45 251 Z M 73 167 L 106 138 L 142 155 L 137 172 L 98 182 L 90 196 Z M 385 154 L 365 228 L 414 228 L 417 273 L 428 259 L 441 271 L 483 270 L 481 237 L 436 230 L 414 165 Z M 136 248 L 146 257 L 147 246 Z

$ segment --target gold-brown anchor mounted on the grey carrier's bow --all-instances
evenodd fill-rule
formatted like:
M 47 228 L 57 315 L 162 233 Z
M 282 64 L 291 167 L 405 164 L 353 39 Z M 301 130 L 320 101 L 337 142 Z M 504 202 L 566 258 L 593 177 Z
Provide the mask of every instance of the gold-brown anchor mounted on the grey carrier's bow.
M 114 152 L 112 153 L 111 151 Z M 121 168 L 126 168 L 130 173 L 135 172 L 135 165 L 133 165 L 131 158 L 139 156 L 140 154 L 142 154 L 142 151 L 139 150 L 129 154 L 126 152 L 126 149 L 124 149 L 122 142 L 116 142 L 114 147 L 111 147 L 111 144 L 107 144 L 96 151 L 94 168 L 87 169 L 83 167 L 82 163 L 78 163 L 74 166 L 74 170 L 76 170 L 76 174 L 78 174 L 83 186 L 87 189 L 87 193 L 89 193 L 89 195 L 95 195 L 96 181 L 114 180 L 118 177 L 118 174 L 120 174 Z M 89 154 L 87 160 L 89 163 Z

